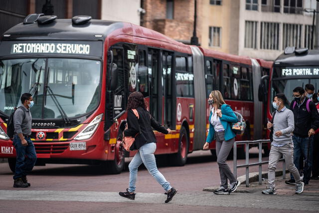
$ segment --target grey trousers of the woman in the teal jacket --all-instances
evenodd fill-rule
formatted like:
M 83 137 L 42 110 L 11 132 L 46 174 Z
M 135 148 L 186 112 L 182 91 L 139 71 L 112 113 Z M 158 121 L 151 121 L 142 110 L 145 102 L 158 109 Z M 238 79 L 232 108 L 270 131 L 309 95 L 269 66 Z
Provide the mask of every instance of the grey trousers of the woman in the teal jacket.
M 216 139 L 216 154 L 217 154 L 217 164 L 219 168 L 220 174 L 220 182 L 222 187 L 225 189 L 228 188 L 228 180 L 229 183 L 236 182 L 236 178 L 234 174 L 231 172 L 229 166 L 226 163 L 226 159 L 229 155 L 231 148 L 234 146 L 235 138 L 232 138 L 228 141 L 225 141 L 225 131 L 215 132 Z

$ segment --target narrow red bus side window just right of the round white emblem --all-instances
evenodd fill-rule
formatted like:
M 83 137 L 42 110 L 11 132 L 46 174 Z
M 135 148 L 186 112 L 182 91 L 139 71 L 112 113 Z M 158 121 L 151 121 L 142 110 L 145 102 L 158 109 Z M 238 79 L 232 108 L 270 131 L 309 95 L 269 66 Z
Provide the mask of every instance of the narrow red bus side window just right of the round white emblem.
M 143 93 L 144 97 L 149 96 L 149 75 L 148 75 L 148 67 L 146 64 L 146 51 L 140 49 L 139 50 L 139 63 L 138 63 L 138 82 L 137 87 L 140 92 Z

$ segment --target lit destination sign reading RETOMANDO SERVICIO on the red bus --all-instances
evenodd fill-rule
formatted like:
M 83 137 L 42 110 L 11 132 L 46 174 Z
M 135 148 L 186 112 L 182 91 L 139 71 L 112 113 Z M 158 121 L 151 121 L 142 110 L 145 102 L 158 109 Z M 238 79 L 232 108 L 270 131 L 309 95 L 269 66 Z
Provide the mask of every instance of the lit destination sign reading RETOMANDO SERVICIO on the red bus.
M 16 54 L 64 54 L 102 56 L 101 41 L 3 41 L 1 55 Z

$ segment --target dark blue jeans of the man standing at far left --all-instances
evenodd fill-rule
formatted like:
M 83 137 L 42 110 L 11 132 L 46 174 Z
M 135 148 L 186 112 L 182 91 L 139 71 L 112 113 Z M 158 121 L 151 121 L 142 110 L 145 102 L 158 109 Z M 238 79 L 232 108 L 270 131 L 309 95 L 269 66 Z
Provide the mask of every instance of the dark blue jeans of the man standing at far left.
M 28 142 L 27 146 L 22 146 L 19 136 L 14 135 L 13 146 L 16 152 L 15 174 L 13 179 L 22 178 L 32 171 L 36 162 L 34 145 L 30 138 L 24 138 Z M 26 158 L 25 158 L 26 156 Z

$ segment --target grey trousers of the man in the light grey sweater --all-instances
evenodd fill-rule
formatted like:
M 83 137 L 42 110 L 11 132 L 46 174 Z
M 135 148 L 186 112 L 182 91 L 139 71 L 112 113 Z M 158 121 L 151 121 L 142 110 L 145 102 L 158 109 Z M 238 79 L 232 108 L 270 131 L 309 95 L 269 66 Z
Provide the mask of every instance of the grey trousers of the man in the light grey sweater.
M 269 164 L 268 164 L 268 184 L 269 188 L 275 189 L 275 171 L 278 161 L 281 155 L 285 158 L 286 168 L 294 176 L 296 183 L 301 183 L 301 178 L 298 169 L 294 164 L 294 145 L 293 143 L 286 144 L 282 147 L 271 146 L 269 153 Z

